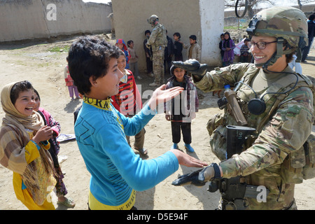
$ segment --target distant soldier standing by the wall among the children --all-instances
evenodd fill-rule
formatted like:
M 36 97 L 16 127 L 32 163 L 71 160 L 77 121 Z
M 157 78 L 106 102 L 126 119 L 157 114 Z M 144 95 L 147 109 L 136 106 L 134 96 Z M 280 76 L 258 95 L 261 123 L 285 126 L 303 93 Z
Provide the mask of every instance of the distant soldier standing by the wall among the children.
M 149 85 L 157 87 L 165 81 L 164 52 L 167 46 L 167 35 L 166 29 L 159 23 L 157 15 L 151 15 L 151 17 L 148 18 L 148 23 L 151 24 L 153 30 L 146 45 L 148 47 L 151 46 L 153 51 L 153 73 L 155 76 L 154 82 Z

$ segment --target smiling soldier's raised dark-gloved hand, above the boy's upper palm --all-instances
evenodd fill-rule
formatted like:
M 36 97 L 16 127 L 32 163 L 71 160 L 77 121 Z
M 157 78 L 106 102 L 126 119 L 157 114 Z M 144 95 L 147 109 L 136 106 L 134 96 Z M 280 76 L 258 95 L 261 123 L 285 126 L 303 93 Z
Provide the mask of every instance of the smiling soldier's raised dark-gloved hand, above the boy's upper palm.
M 207 72 L 207 64 L 200 64 L 200 62 L 198 62 L 196 59 L 188 59 L 185 62 L 175 61 L 172 62 L 172 64 L 188 71 L 189 73 L 192 73 L 195 76 L 202 77 Z

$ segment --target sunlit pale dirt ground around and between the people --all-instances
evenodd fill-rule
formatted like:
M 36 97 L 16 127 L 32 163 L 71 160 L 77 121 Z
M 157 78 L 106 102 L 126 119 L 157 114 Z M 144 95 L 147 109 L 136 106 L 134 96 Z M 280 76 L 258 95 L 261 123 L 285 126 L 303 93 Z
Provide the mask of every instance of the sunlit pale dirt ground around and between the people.
M 106 37 L 106 36 L 105 36 Z M 13 81 L 29 80 L 41 95 L 41 106 L 49 111 L 62 127 L 62 134 L 74 134 L 73 111 L 82 103 L 81 99 L 71 101 L 64 82 L 64 66 L 66 65 L 67 48 L 75 37 L 61 38 L 50 42 L 33 41 L 31 43 L 8 43 L 0 45 L 0 90 L 3 85 Z M 111 40 L 113 41 L 113 40 Z M 63 50 L 60 50 L 63 49 Z M 136 49 L 138 54 L 142 48 Z M 308 63 L 302 64 L 303 73 L 315 76 L 315 49 L 312 48 Z M 153 78 L 141 73 L 141 92 L 149 90 L 148 83 Z M 167 78 L 169 75 L 166 76 Z M 146 102 L 143 98 L 143 102 Z M 209 118 L 220 110 L 217 106 L 217 96 L 211 93 L 200 95 L 200 111 L 192 123 L 192 146 L 195 158 L 211 162 L 219 162 L 211 153 L 209 135 L 206 124 Z M 0 105 L 1 106 L 1 105 Z M 3 118 L 0 109 L 0 118 Z M 131 138 L 133 141 L 133 138 Z M 85 168 L 75 140 L 60 143 L 59 159 L 66 158 L 61 165 L 66 173 L 64 183 L 68 190 L 67 197 L 76 202 L 76 207 L 69 210 L 87 209 L 87 195 L 89 192 L 90 174 Z M 158 114 L 146 125 L 145 148 L 148 156 L 145 160 L 156 158 L 165 153 L 172 146 L 171 125 L 165 120 L 164 114 Z M 186 152 L 183 142 L 180 149 Z M 187 152 L 186 152 L 187 153 Z M 180 166 L 179 170 L 162 181 L 154 188 L 137 192 L 135 206 L 142 210 L 214 210 L 218 207 L 220 194 L 209 193 L 208 185 L 202 188 L 195 186 L 174 187 L 172 181 L 181 174 L 195 171 L 197 168 Z M 315 179 L 304 181 L 295 188 L 295 199 L 298 209 L 315 209 Z M 52 202 L 56 209 L 65 210 L 66 207 L 57 205 L 57 197 L 52 193 Z M 26 210 L 27 208 L 16 199 L 12 185 L 12 172 L 0 166 L 0 210 Z

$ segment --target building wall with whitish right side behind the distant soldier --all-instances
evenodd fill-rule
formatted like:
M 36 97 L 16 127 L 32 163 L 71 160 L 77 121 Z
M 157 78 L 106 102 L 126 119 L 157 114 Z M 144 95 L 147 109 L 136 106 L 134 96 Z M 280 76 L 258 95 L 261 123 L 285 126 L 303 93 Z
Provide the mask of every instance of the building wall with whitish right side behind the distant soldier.
M 132 2 L 132 3 L 131 3 Z M 116 39 L 134 41 L 139 56 L 139 69 L 146 68 L 144 55 L 144 31 L 152 30 L 147 19 L 158 15 L 168 36 L 181 34 L 181 41 L 189 44 L 189 36 L 195 34 L 202 47 L 202 62 L 209 65 L 220 63 L 218 43 L 223 32 L 224 1 L 218 0 L 112 0 Z M 183 50 L 184 60 L 187 50 Z

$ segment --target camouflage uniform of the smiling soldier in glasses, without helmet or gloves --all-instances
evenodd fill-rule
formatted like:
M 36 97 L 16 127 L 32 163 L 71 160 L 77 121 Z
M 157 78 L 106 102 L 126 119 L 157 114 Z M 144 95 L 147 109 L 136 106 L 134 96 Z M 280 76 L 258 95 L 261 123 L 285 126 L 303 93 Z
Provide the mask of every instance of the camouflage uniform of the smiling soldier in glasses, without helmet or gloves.
M 288 66 L 284 71 L 293 73 Z M 235 85 L 241 78 L 244 83 L 251 85 L 251 80 L 258 73 L 263 72 L 254 64 L 232 64 L 228 67 L 215 69 L 207 74 L 195 85 L 204 92 L 221 90 L 226 84 Z M 293 76 L 294 75 L 285 75 Z M 288 79 L 288 78 L 287 78 Z M 293 84 L 296 77 L 293 78 Z M 282 85 L 283 82 L 281 82 Z M 290 83 L 290 78 L 288 80 Z M 269 85 L 267 92 L 285 92 L 292 85 L 282 86 L 274 83 Z M 225 160 L 226 151 L 226 125 L 237 125 L 230 111 L 225 109 L 224 116 L 216 120 L 215 130 L 209 130 L 212 151 L 222 162 L 223 178 L 245 176 L 246 183 L 253 186 L 265 186 L 270 190 L 267 202 L 258 202 L 256 199 L 247 198 L 247 209 L 286 209 L 295 207 L 294 183 L 284 181 L 288 169 L 283 167 L 283 161 L 289 154 L 298 151 L 311 133 L 313 123 L 313 93 L 309 87 L 311 81 L 305 76 L 299 76 L 298 85 L 289 94 L 266 94 L 264 97 L 266 110 L 256 116 L 248 112 L 247 103 L 255 98 L 253 90 L 246 85 L 241 85 L 237 90 L 237 99 L 241 105 L 248 127 L 253 127 L 256 132 L 246 142 L 247 149 L 240 155 L 233 155 Z M 277 91 L 275 91 L 277 90 Z M 265 92 L 256 92 L 262 94 Z M 258 95 L 259 97 L 259 95 Z M 276 102 L 279 100 L 279 102 Z M 279 104 L 274 109 L 272 106 Z M 214 121 L 211 120 L 210 123 Z M 289 183 L 286 183 L 289 182 Z

